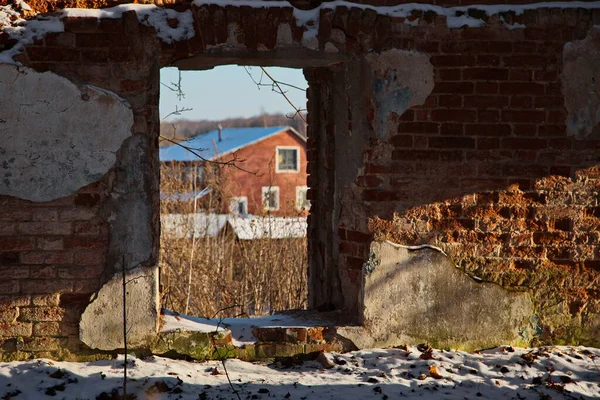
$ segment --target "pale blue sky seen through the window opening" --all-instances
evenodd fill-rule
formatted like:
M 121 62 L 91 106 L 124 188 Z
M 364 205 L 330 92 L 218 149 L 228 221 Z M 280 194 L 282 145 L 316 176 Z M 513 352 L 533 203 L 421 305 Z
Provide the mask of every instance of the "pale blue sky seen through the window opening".
M 306 89 L 308 84 L 301 69 L 267 68 L 274 79 Z M 259 67 L 250 67 L 250 72 L 258 81 Z M 171 85 L 179 79 L 177 68 L 163 68 L 161 83 Z M 160 118 L 163 120 L 175 108 L 192 108 L 180 116 L 171 115 L 165 121 L 176 119 L 220 120 L 229 117 L 250 117 L 263 112 L 293 115 L 294 109 L 281 94 L 271 87 L 261 87 L 252 82 L 243 67 L 227 65 L 206 71 L 181 71 L 181 86 L 185 98 L 181 101 L 177 94 L 165 86 L 160 88 Z M 263 83 L 270 83 L 266 77 Z M 288 97 L 299 108 L 306 108 L 306 92 L 287 88 Z

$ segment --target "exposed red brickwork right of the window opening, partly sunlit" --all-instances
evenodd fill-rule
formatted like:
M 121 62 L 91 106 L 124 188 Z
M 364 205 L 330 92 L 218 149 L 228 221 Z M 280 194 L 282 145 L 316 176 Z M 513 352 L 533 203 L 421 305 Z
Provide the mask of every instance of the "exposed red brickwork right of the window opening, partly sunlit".
M 539 10 L 522 30 L 447 31 L 432 20 L 387 36 L 382 50 L 429 54 L 435 83 L 424 104 L 388 114 L 388 134 L 365 148 L 347 206 L 366 218 L 348 212 L 339 226 L 350 281 L 360 286 L 372 237 L 434 244 L 472 276 L 531 291 L 535 340 L 597 343 L 600 128 L 593 117 L 570 126 L 581 114 L 566 107 L 565 71 L 575 69 L 565 49 L 596 35 L 598 17 Z M 595 87 L 585 76 L 580 87 Z M 377 105 L 372 114 L 376 127 Z

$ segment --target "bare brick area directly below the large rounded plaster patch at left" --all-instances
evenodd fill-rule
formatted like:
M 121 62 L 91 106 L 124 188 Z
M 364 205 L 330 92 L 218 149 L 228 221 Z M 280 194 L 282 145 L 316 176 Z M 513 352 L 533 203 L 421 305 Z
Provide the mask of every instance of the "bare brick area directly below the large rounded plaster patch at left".
M 108 180 L 46 203 L 0 196 L 1 351 L 79 349 L 79 314 L 101 286 Z

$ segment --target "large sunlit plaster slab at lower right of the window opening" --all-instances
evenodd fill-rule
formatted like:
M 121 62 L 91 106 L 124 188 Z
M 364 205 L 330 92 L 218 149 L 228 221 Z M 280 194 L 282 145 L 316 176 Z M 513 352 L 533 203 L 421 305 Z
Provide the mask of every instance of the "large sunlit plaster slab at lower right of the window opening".
M 477 282 L 438 249 L 373 242 L 363 273 L 370 343 L 348 335 L 358 345 L 428 342 L 471 350 L 525 344 L 533 311 L 529 294 Z

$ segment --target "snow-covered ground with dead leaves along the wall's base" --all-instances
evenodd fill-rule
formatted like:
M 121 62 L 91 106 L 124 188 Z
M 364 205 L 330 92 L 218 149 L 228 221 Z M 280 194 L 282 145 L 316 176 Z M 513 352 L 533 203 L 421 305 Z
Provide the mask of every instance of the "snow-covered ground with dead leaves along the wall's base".
M 324 354 L 286 365 L 226 361 L 241 399 L 600 399 L 600 349 L 496 348 L 471 354 L 413 346 Z M 330 368 L 324 368 L 328 366 Z M 112 399 L 123 358 L 0 363 L 0 399 Z M 218 361 L 129 363 L 137 399 L 237 399 Z

